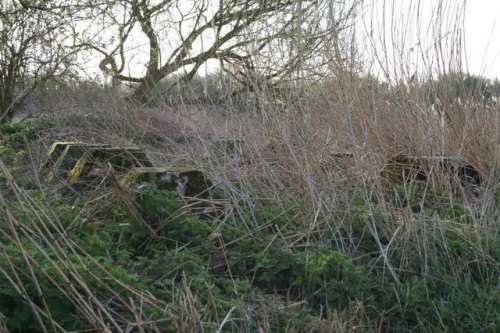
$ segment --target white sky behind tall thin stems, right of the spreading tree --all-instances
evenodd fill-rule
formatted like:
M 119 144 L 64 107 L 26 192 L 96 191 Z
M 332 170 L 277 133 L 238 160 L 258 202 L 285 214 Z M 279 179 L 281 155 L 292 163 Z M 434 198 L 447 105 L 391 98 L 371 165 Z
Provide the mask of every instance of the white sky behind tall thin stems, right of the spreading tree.
M 364 9 L 358 42 L 379 78 L 399 83 L 460 69 L 500 79 L 500 0 L 372 0 Z

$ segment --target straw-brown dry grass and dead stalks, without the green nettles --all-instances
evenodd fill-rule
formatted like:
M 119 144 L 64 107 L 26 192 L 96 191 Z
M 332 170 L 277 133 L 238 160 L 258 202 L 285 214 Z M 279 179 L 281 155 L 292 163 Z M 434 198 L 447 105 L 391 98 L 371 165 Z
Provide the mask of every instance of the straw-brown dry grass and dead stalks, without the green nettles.
M 400 102 L 389 95 L 374 95 L 363 87 L 362 80 L 350 82 L 349 86 L 351 88 L 340 95 L 332 93 L 338 91 L 338 83 L 327 83 L 306 96 L 302 105 L 290 105 L 287 112 L 269 109 L 254 114 L 238 113 L 230 107 L 211 112 L 204 110 L 203 105 L 181 106 L 177 110 L 143 108 L 117 100 L 116 104 L 106 103 L 88 110 L 85 117 L 77 116 L 78 123 L 75 124 L 70 122 L 68 125 L 68 121 L 61 118 L 60 127 L 56 126 L 54 132 L 44 133 L 39 144 L 46 147 L 57 139 L 137 145 L 148 152 L 156 165 L 186 162 L 197 165 L 217 187 L 224 188 L 229 202 L 233 203 L 232 210 L 248 209 L 261 202 L 272 202 L 277 207 L 289 203 L 302 205 L 321 218 L 304 225 L 303 234 L 287 240 L 291 249 L 304 237 L 311 248 L 322 244 L 322 238 L 331 237 L 335 239 L 334 248 L 355 255 L 362 244 L 350 238 L 349 230 L 353 228 L 351 213 L 346 212 L 345 207 L 353 206 L 354 198 L 361 197 L 370 212 L 368 216 L 372 216 L 366 220 L 367 228 L 378 244 L 379 255 L 370 265 L 373 269 L 386 267 L 396 282 L 416 257 L 425 263 L 421 273 L 427 274 L 435 258 L 449 252 L 447 245 L 439 244 L 437 237 L 448 232 L 462 233 L 463 227 L 454 219 L 431 217 L 386 200 L 388 188 L 380 179 L 380 171 L 395 154 L 461 156 L 479 166 L 486 183 L 478 198 L 465 192 L 457 197 L 452 189 L 441 195 L 449 196 L 451 203 L 457 200 L 465 202 L 470 216 L 474 216 L 470 228 L 475 232 L 482 235 L 500 232 L 498 207 L 493 198 L 495 191 L 498 192 L 498 109 L 451 106 L 446 111 L 449 116 L 441 122 L 430 105 L 409 102 L 411 96 Z M 63 106 L 60 108 L 64 109 Z M 224 143 L 221 146 L 221 142 L 231 142 L 235 147 L 225 147 Z M 3 172 L 8 174 L 5 167 Z M 11 184 L 15 184 L 14 179 L 11 179 Z M 438 187 L 428 185 L 429 191 Z M 22 190 L 13 186 L 16 195 L 24 195 Z M 405 191 L 411 198 L 417 190 L 412 184 L 407 184 Z M 374 198 L 378 200 L 377 205 L 373 204 Z M 29 202 L 30 199 L 25 197 L 22 201 Z M 32 211 L 29 207 L 25 210 Z M 381 210 L 384 224 L 375 219 Z M 3 211 L 3 214 L 8 212 Z M 33 219 L 48 221 L 50 225 L 44 228 L 60 229 L 55 214 Z M 20 221 L 7 219 L 6 223 L 11 225 L 14 233 L 19 232 L 15 230 L 18 230 L 16 225 Z M 422 224 L 426 227 L 422 228 Z M 64 266 L 67 259 L 65 253 L 57 249 L 59 243 L 45 239 L 48 233 L 38 229 L 40 226 L 34 224 L 33 227 L 36 229 L 26 229 L 20 236 L 41 238 L 33 239 L 34 246 L 42 241 L 55 247 L 54 252 L 60 257 L 50 259 L 53 269 L 61 270 L 61 278 L 70 279 L 73 287 L 67 289 L 67 285 L 53 283 L 64 290 L 68 300 L 84 314 L 85 320 L 94 322 L 95 327 L 110 327 L 111 331 L 127 331 L 132 327 L 143 332 L 155 331 L 155 323 L 147 322 L 141 314 L 141 304 L 156 304 L 154 296 L 133 289 L 129 290 L 129 299 L 119 294 L 110 296 L 114 306 L 119 303 L 137 318 L 136 323 L 116 322 L 115 315 L 94 297 L 91 287 L 81 280 L 78 271 Z M 248 222 L 246 228 L 251 235 L 252 230 L 259 227 Z M 59 234 L 62 237 L 64 230 Z M 464 235 L 464 238 L 468 239 L 468 236 Z M 80 253 L 75 244 L 70 244 L 70 239 L 61 241 L 74 248 L 75 253 Z M 482 256 L 480 244 L 470 241 L 472 247 L 477 247 L 477 260 L 489 261 Z M 437 247 L 436 243 L 439 244 Z M 17 246 L 22 253 L 28 253 L 23 249 L 25 245 L 17 243 Z M 402 249 L 402 256 L 393 259 L 393 249 Z M 359 259 L 352 258 L 354 261 Z M 41 269 L 34 258 L 27 256 L 24 261 L 33 270 Z M 461 263 L 450 257 L 449 265 L 459 279 Z M 4 274 L 16 278 L 9 272 Z M 102 277 L 96 276 L 96 279 Z M 169 320 L 175 321 L 181 331 L 199 330 L 203 305 L 191 293 L 187 282 L 184 283 L 184 290 L 179 290 L 176 297 L 181 313 L 171 314 Z M 14 280 L 12 284 L 22 286 L 20 280 Z M 128 287 L 123 285 L 123 288 Z M 19 293 L 27 295 L 22 289 Z M 157 306 L 161 306 L 161 302 Z M 41 317 L 50 315 L 43 303 L 32 304 L 32 307 L 33 312 Z M 243 325 L 245 318 L 252 318 L 245 311 L 251 310 L 242 308 L 234 313 L 220 314 L 216 326 L 222 330 L 232 321 Z M 345 320 L 345 316 L 341 319 L 331 309 L 328 311 L 311 330 L 350 332 L 361 328 L 377 331 L 372 324 L 363 323 L 362 303 L 359 308 L 352 309 L 349 320 Z M 57 327 L 47 327 L 47 331 L 51 330 L 62 331 Z

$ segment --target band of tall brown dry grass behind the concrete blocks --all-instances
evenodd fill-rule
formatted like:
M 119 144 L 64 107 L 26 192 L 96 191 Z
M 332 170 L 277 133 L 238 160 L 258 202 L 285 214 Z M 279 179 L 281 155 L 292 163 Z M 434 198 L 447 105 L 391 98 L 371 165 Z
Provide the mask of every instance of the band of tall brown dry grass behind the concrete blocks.
M 381 195 L 380 171 L 398 154 L 458 156 L 490 184 L 497 177 L 495 108 L 452 104 L 436 110 L 371 77 L 330 80 L 303 91 L 300 102 L 289 100 L 285 110 L 271 99 L 268 109 L 254 113 L 238 112 L 229 101 L 145 108 L 103 91 L 107 98 L 80 98 L 93 103 L 83 116 L 71 107 L 85 107 L 64 105 L 66 99 L 52 104 L 66 110 L 65 117 L 56 113 L 57 125 L 40 141 L 44 149 L 55 140 L 139 146 L 154 165 L 195 164 L 230 192 L 234 183 L 243 186 L 238 192 L 249 192 L 243 197 L 257 190 L 322 207 L 348 200 L 353 190 Z

